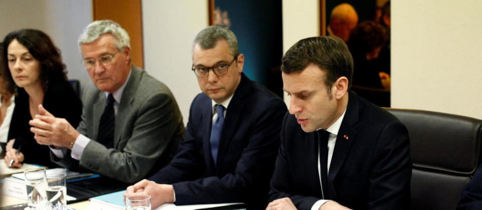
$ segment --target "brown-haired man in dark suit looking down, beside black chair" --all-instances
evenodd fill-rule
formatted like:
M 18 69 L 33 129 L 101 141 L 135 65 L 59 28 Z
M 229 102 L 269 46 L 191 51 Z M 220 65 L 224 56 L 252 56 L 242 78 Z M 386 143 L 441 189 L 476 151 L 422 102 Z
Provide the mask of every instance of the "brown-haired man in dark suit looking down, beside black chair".
M 290 95 L 267 209 L 407 209 L 408 132 L 350 92 L 353 59 L 336 37 L 298 41 L 282 59 Z

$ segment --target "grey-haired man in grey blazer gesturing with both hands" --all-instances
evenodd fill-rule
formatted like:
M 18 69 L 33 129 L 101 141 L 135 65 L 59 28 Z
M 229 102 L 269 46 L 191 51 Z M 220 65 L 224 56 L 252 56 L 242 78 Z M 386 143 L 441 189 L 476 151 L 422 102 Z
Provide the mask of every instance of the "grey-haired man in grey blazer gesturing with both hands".
M 129 41 L 113 21 L 89 24 L 79 48 L 95 87 L 84 91 L 82 121 L 75 129 L 40 107 L 30 125 L 55 163 L 131 184 L 169 163 L 184 125 L 169 88 L 132 64 Z

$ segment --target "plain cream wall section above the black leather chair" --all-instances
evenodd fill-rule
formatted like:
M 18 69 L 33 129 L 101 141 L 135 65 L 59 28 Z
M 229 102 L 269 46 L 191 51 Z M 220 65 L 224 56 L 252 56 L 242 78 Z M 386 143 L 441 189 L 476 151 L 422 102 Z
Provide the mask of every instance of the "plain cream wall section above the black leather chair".
M 393 107 L 482 119 L 480 11 L 481 1 L 393 1 Z

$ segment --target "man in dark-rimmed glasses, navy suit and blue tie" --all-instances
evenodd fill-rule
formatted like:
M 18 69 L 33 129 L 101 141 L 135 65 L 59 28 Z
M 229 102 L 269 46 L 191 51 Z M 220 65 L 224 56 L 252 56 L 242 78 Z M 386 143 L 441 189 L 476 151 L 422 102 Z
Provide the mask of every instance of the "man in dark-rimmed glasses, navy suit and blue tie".
M 186 136 L 169 165 L 128 187 L 125 196 L 150 194 L 153 208 L 166 202 L 266 206 L 287 109 L 243 73 L 245 57 L 238 51 L 227 29 L 199 32 L 191 69 L 202 93 L 191 103 Z

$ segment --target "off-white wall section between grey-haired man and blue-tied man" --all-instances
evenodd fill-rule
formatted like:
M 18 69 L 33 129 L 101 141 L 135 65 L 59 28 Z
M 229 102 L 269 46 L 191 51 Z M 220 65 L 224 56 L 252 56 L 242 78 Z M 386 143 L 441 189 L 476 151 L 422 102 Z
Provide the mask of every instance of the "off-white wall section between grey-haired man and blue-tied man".
M 191 71 L 191 43 L 207 27 L 207 1 L 142 1 L 144 65 L 176 97 L 184 124 L 192 99 L 201 92 Z

